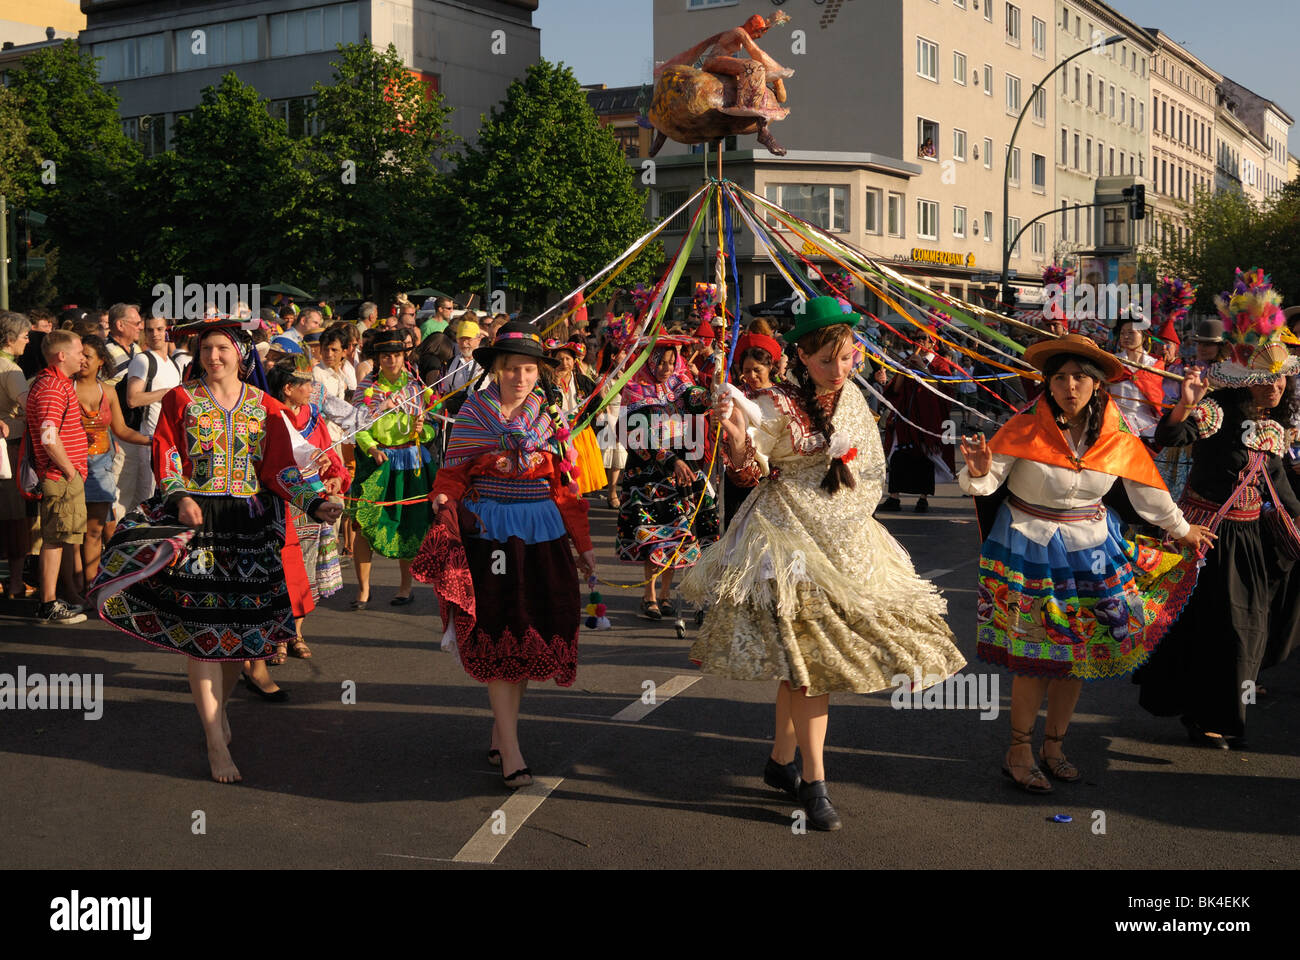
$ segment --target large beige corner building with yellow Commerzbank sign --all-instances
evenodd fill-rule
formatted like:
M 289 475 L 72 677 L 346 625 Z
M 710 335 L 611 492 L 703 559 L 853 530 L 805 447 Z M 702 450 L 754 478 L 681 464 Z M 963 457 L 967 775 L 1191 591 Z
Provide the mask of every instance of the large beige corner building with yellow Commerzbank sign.
M 655 59 L 775 9 L 771 0 L 655 0 Z M 1056 62 L 1053 0 L 781 9 L 792 22 L 759 44 L 796 70 L 786 81 L 790 116 L 772 125 L 789 153 L 755 152 L 754 139 L 741 137 L 740 150 L 724 155 L 725 176 L 932 286 L 996 298 L 988 276 L 1001 271 L 1008 235 L 998 224 L 1008 146 L 1018 113 Z M 1052 109 L 1044 91 L 1015 138 L 1009 232 L 1053 208 Z M 653 215 L 671 211 L 673 198 L 701 182 L 701 157 L 670 163 L 686 152 L 664 147 Z M 1049 222 L 1031 228 L 1011 258 L 1010 267 L 1032 285 L 1052 256 L 1050 232 Z M 766 258 L 751 248 L 737 255 L 746 299 L 788 291 Z M 698 278 L 703 264 L 692 271 Z

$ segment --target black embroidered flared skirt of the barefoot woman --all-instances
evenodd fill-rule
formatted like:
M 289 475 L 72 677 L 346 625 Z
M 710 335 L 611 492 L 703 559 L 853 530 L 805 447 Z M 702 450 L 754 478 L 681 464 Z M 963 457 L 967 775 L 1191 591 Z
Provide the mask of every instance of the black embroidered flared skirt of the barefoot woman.
M 147 644 L 194 660 L 265 660 L 295 636 L 281 565 L 283 501 L 195 501 L 198 529 L 159 496 L 129 513 L 87 593 L 100 618 Z

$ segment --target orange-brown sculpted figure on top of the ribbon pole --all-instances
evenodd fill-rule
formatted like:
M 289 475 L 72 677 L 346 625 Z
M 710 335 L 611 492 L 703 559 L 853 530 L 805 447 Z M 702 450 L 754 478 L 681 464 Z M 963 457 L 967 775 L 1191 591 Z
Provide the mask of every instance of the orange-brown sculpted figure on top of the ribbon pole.
M 656 130 L 650 156 L 672 138 L 677 143 L 708 143 L 737 134 L 758 134 L 776 156 L 785 148 L 768 124 L 785 120 L 784 81 L 794 70 L 781 66 L 754 43 L 772 26 L 789 20 L 754 14 L 741 26 L 701 40 L 655 70 L 650 122 Z M 744 49 L 749 59 L 733 56 Z M 699 66 L 696 66 L 699 64 Z

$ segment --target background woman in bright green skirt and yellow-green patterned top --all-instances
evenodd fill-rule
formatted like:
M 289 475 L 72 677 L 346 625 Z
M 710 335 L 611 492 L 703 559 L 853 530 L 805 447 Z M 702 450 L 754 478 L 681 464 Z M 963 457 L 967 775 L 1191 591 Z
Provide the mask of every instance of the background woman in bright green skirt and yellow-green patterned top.
M 426 444 L 434 428 L 424 420 L 420 395 L 424 388 L 406 366 L 406 343 L 400 333 L 381 332 L 372 349 L 376 369 L 358 385 L 356 402 L 372 415 L 378 415 L 389 398 L 396 399 L 399 406 L 378 416 L 354 438 L 356 476 L 350 497 L 359 527 L 354 546 L 359 587 L 354 610 L 369 605 L 374 552 L 395 558 L 402 570 L 402 585 L 389 604 L 404 606 L 411 602 L 411 559 L 433 522 L 428 496 L 434 468 Z M 403 399 L 408 402 L 402 405 Z

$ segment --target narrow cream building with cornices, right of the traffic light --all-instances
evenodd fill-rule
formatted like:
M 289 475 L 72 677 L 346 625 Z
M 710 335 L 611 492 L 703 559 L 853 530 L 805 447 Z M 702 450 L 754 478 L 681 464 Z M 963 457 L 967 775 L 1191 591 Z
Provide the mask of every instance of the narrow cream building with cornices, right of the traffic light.
M 1183 219 L 1200 191 L 1214 190 L 1218 85 L 1223 74 L 1206 66 L 1164 31 L 1156 40 L 1150 96 L 1150 242 L 1158 250 L 1187 241 Z

